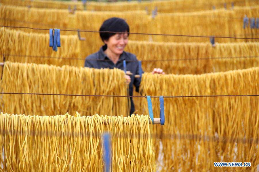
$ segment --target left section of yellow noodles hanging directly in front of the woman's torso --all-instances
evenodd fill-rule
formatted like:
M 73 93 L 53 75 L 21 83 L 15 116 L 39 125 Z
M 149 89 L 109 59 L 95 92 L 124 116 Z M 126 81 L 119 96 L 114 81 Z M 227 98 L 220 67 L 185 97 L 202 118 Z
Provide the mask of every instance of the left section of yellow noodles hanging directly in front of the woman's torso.
M 1 92 L 81 95 L 127 95 L 124 72 L 119 69 L 56 67 L 46 64 L 5 62 Z M 3 95 L 4 113 L 56 115 L 129 115 L 127 97 L 58 95 Z

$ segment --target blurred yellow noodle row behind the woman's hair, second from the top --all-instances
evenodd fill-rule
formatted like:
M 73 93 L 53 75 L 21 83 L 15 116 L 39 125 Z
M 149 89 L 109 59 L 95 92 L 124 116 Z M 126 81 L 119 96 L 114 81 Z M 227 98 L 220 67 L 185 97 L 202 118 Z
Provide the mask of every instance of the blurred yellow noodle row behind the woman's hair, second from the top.
M 259 5 L 235 7 L 234 9 L 217 9 L 189 13 L 158 13 L 153 19 L 150 15 L 138 12 L 116 11 L 77 11 L 69 14 L 64 9 L 37 9 L 0 6 L 0 24 L 5 26 L 23 26 L 32 28 L 61 28 L 69 30 L 98 31 L 102 22 L 111 17 L 120 17 L 127 21 L 130 32 L 177 34 L 195 36 L 226 36 L 239 38 L 258 38 L 258 29 L 250 26 L 243 28 L 243 17 L 256 18 Z M 52 16 L 52 17 L 49 17 Z M 89 22 L 91 21 L 91 22 Z M 168 22 L 170 21 L 170 22 Z M 23 29 L 27 32 L 46 33 L 45 30 Z M 77 32 L 62 31 L 61 34 L 77 35 Z M 81 32 L 86 38 L 84 46 L 100 40 L 98 33 Z M 157 36 L 130 34 L 130 40 L 155 42 L 209 42 L 210 38 L 189 36 Z M 215 38 L 215 42 L 251 42 L 253 39 Z M 100 41 L 101 42 L 101 41 Z

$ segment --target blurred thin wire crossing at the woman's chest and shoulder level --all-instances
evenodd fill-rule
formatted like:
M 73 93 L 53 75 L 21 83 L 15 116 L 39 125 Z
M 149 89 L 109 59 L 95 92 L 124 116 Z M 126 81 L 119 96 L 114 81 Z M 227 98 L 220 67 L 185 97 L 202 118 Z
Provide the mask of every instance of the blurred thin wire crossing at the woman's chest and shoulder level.
M 13 57 L 30 57 L 30 58 L 53 58 L 64 60 L 89 60 L 89 61 L 110 61 L 108 59 L 85 59 L 74 57 L 53 57 L 53 56 L 32 56 L 32 55 L 16 55 L 16 54 L 0 54 L 1 56 L 13 56 Z M 171 58 L 171 59 L 151 59 L 141 60 L 142 62 L 158 62 L 158 61 L 182 61 L 182 60 L 216 60 L 216 59 L 236 59 L 236 58 L 258 58 L 259 56 L 226 56 L 226 57 L 207 57 L 207 58 Z M 122 61 L 122 60 L 119 60 Z M 138 62 L 138 60 L 125 60 L 126 62 Z

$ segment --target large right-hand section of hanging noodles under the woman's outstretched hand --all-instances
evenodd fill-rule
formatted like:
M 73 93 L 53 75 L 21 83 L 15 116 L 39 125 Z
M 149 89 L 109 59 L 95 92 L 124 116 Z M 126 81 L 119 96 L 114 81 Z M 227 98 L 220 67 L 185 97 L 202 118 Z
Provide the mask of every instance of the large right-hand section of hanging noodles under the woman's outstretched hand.
M 255 67 L 202 75 L 144 73 L 140 91 L 151 96 L 258 95 L 258 85 L 259 67 Z M 137 113 L 147 114 L 146 100 L 136 100 L 141 107 L 136 107 Z M 153 107 L 159 107 L 158 99 L 152 101 Z M 251 162 L 251 167 L 242 167 L 242 170 L 256 171 L 258 96 L 165 98 L 164 101 L 165 126 L 154 128 L 163 145 L 163 170 L 229 171 L 229 167 L 214 167 L 213 162 Z M 159 108 L 153 110 L 154 118 L 159 117 Z M 172 136 L 168 138 L 168 134 Z M 218 136 L 219 140 L 207 140 L 203 136 Z M 159 141 L 153 140 L 155 150 L 159 149 Z

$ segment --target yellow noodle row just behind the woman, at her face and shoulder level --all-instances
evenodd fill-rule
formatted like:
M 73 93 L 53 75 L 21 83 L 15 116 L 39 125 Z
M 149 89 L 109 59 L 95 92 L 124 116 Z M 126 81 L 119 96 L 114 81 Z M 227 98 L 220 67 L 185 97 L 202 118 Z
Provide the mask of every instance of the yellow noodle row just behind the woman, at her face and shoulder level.
M 49 34 L 47 33 L 26 33 L 1 28 L 0 54 L 5 54 L 6 60 L 12 62 L 83 67 L 85 57 L 98 51 L 102 45 L 91 43 L 88 46 L 82 46 L 82 41 L 75 35 L 61 35 L 60 39 L 61 47 L 55 52 L 49 47 Z M 259 65 L 258 42 L 216 43 L 215 47 L 212 47 L 211 43 L 129 41 L 125 50 L 136 54 L 138 60 L 143 60 L 142 69 L 146 72 L 159 67 L 165 73 L 201 74 Z M 8 56 L 8 54 L 11 55 Z

